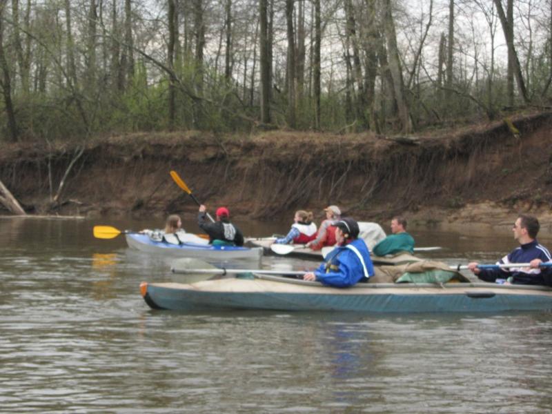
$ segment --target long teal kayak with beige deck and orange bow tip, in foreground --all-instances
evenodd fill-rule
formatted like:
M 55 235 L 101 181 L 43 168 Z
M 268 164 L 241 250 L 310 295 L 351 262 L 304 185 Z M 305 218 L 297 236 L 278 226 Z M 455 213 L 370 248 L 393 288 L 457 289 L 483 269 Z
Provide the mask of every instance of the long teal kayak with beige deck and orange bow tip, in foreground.
M 151 308 L 171 310 L 415 313 L 552 309 L 552 288 L 487 283 L 368 283 L 339 289 L 318 282 L 255 275 L 253 279 L 213 279 L 193 284 L 143 282 L 140 290 Z

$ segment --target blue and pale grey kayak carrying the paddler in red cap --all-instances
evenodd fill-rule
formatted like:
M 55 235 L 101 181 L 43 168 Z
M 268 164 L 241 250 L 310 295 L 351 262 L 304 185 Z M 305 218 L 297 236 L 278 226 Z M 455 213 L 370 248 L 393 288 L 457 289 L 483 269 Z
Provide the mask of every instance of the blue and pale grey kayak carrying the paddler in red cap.
M 199 239 L 199 237 L 197 237 Z M 201 239 L 200 239 L 201 240 Z M 198 243 L 170 244 L 154 242 L 148 235 L 139 233 L 126 234 L 128 246 L 147 253 L 155 253 L 172 257 L 197 257 L 199 259 L 260 259 L 262 248 L 237 246 L 212 246 L 205 241 Z

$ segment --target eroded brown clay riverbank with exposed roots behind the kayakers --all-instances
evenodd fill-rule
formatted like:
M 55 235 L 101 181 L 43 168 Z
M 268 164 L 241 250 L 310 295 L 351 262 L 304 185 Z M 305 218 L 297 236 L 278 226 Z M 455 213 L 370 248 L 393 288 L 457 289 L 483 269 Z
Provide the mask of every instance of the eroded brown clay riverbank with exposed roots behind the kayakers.
M 552 113 L 415 137 L 151 132 L 51 146 L 3 144 L 0 180 L 28 214 L 165 216 L 211 209 L 270 220 L 328 204 L 367 221 L 552 226 Z M 10 214 L 0 206 L 0 214 Z

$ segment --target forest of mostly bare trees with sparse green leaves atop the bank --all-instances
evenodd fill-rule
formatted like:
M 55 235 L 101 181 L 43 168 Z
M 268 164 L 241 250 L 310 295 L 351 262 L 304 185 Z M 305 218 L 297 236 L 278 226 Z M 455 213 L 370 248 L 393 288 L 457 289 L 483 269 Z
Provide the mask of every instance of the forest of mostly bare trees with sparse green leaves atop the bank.
M 546 110 L 549 0 L 0 2 L 0 141 L 390 135 Z

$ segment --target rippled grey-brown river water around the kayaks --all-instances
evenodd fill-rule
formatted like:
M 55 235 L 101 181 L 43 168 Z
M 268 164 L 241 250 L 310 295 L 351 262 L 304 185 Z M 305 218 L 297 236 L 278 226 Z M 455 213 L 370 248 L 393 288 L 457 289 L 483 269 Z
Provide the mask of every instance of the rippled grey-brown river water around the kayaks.
M 0 219 L 2 413 L 550 412 L 551 313 L 152 311 L 139 284 L 169 264 L 123 236 L 94 239 L 95 224 L 156 223 Z M 250 236 L 288 227 L 238 224 Z M 449 264 L 515 246 L 509 228 L 411 233 Z M 282 263 L 315 265 L 262 266 Z

